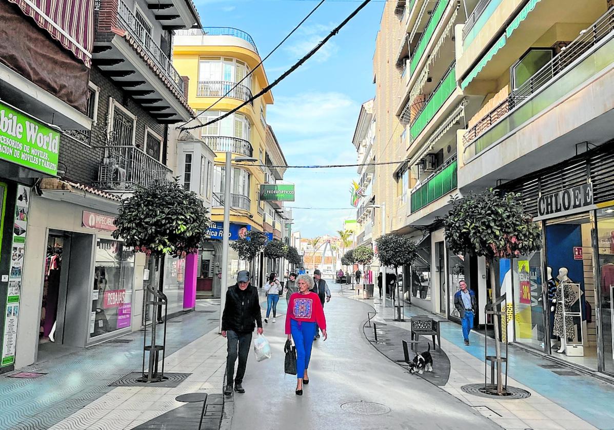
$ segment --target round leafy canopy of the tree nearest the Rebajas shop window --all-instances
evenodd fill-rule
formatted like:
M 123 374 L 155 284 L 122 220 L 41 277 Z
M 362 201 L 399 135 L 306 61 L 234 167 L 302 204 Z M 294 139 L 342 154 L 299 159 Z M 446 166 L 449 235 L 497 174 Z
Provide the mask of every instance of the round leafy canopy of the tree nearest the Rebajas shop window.
M 185 257 L 196 252 L 211 220 L 196 193 L 175 180 L 136 189 L 120 203 L 114 224 L 113 237 L 136 252 Z

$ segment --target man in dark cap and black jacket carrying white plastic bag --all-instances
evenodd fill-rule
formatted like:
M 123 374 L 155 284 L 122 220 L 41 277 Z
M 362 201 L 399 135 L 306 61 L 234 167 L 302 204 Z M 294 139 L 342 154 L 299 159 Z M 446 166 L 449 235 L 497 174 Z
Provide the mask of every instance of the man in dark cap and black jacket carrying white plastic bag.
M 258 326 L 258 334 L 262 334 L 258 290 L 249 284 L 249 272 L 241 270 L 236 275 L 236 284 L 229 287 L 226 292 L 226 303 L 222 314 L 222 336 L 228 339 L 226 387 L 224 388 L 224 394 L 227 396 L 232 394 L 233 382 L 237 393 L 245 393 L 241 384 L 247 367 L 252 333 L 256 326 Z M 239 366 L 233 380 L 237 356 Z

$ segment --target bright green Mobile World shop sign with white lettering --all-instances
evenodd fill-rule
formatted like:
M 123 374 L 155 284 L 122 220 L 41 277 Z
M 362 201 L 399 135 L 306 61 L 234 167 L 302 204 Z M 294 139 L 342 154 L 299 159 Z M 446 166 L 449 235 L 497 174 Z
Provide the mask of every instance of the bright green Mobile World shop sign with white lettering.
M 59 152 L 58 131 L 0 103 L 0 159 L 55 176 Z

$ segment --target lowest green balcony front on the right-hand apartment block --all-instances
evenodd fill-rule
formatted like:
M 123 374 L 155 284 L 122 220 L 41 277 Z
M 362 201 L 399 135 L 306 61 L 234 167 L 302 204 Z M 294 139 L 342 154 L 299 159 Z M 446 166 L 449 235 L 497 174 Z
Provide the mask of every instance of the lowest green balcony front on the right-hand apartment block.
M 411 190 L 411 213 L 435 202 L 457 186 L 457 157 L 453 156 Z

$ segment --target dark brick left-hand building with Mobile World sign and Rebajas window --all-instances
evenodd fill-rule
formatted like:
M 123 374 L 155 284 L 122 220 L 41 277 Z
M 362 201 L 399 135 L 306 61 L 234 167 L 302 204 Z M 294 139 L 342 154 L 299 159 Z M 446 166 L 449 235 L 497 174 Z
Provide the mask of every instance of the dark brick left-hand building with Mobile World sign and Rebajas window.
M 200 18 L 168 3 L 0 2 L 0 372 L 145 323 L 159 268 L 112 232 L 122 198 L 174 176 L 194 115 L 171 49 Z M 192 309 L 190 261 L 165 264 L 169 313 Z

